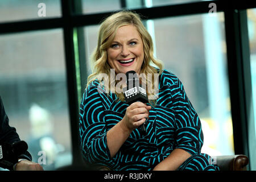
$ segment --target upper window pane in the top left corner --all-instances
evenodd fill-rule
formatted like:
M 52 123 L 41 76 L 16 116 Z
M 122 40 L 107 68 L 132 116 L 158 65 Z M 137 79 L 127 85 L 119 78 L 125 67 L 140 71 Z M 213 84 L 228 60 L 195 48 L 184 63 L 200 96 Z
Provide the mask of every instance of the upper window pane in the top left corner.
M 61 16 L 60 0 L 0 1 L 0 22 L 53 18 L 59 16 Z

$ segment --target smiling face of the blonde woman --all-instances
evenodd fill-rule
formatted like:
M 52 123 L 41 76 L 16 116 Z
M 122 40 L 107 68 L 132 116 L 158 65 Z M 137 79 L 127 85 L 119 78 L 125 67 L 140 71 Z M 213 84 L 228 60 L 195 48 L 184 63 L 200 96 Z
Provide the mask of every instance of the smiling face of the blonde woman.
M 115 73 L 141 72 L 144 60 L 143 42 L 137 28 L 131 24 L 119 27 L 107 49 L 108 63 Z

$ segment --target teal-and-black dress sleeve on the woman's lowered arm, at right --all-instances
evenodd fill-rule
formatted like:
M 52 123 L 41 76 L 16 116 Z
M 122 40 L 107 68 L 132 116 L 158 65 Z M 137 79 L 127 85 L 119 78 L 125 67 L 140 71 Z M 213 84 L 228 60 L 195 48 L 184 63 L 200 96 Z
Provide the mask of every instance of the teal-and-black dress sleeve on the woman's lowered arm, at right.
M 174 99 L 176 123 L 176 148 L 189 154 L 200 154 L 203 146 L 203 131 L 200 119 L 188 100 L 183 84 L 177 79 Z

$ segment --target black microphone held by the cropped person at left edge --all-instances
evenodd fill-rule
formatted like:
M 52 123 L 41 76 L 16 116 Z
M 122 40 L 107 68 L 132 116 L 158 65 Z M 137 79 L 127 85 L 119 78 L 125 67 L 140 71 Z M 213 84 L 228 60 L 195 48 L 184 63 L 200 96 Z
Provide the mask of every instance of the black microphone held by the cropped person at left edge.
M 14 164 L 18 163 L 18 156 L 27 149 L 27 143 L 24 141 L 0 144 L 0 167 L 12 171 Z

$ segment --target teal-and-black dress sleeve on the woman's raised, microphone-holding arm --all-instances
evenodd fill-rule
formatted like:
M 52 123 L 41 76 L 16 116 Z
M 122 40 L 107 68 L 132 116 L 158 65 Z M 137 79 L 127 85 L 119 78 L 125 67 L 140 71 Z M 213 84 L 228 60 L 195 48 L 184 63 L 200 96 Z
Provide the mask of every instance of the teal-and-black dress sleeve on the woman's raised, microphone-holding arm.
M 100 90 L 91 84 L 85 89 L 80 103 L 79 131 L 82 156 L 89 164 L 110 164 L 112 158 L 106 142 L 105 105 Z

